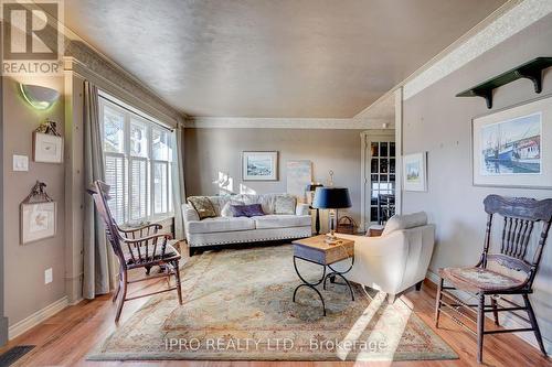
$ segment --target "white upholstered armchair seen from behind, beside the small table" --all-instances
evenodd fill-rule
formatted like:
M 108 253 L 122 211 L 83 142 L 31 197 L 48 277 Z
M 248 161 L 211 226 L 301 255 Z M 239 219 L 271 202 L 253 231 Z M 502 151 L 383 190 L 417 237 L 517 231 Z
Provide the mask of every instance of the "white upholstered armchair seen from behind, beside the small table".
M 354 266 L 348 279 L 395 295 L 424 280 L 435 244 L 435 226 L 424 212 L 393 216 L 381 237 L 338 234 L 354 240 Z M 348 267 L 347 260 L 336 268 Z

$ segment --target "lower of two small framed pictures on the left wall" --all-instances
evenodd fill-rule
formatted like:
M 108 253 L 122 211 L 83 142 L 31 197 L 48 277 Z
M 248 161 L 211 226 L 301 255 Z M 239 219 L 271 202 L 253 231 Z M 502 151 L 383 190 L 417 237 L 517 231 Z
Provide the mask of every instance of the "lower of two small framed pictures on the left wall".
M 56 203 L 21 204 L 21 244 L 55 236 Z

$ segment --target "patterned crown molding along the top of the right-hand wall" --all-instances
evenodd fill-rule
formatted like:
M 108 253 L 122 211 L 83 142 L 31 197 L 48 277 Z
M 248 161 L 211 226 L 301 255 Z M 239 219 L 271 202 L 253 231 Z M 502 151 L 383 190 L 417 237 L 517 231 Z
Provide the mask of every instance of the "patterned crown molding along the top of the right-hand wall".
M 487 19 L 485 26 L 479 25 L 477 32 L 470 32 L 470 36 L 461 44 L 453 44 L 454 47 L 447 47 L 446 55 L 407 80 L 404 84 L 403 98 L 412 98 L 499 43 L 552 13 L 552 1 L 550 0 L 516 0 L 508 2 L 505 7 L 493 13 L 491 22 Z

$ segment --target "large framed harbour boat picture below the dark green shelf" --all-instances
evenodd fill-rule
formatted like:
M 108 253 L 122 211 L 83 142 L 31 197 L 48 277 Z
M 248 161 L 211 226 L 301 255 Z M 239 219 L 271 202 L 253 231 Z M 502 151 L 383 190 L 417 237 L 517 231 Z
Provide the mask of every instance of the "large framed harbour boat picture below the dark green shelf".
M 552 97 L 471 121 L 476 186 L 552 187 Z

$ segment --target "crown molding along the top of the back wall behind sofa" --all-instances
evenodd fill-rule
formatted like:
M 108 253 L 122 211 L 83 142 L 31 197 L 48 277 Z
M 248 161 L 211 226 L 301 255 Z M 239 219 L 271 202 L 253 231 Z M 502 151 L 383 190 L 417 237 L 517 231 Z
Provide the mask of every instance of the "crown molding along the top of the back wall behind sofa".
M 331 119 L 331 118 L 241 118 L 241 117 L 192 117 L 185 128 L 195 129 L 381 129 L 383 123 L 392 128 L 388 119 Z

